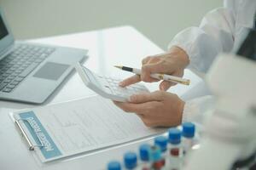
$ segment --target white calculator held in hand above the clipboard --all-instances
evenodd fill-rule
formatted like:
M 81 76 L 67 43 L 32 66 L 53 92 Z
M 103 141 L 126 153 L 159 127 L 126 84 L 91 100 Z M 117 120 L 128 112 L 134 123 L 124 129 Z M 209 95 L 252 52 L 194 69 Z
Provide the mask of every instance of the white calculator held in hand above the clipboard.
M 75 68 L 84 84 L 104 98 L 125 102 L 132 94 L 148 92 L 148 89 L 141 84 L 132 84 L 128 87 L 121 88 L 119 87 L 119 82 L 122 80 L 98 76 L 79 63 Z

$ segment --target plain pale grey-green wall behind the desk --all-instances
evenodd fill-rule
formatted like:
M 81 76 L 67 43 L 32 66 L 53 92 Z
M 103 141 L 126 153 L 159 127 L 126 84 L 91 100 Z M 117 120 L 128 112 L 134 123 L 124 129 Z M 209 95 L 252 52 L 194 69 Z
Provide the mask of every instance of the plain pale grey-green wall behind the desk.
M 161 48 L 220 5 L 222 0 L 0 0 L 18 39 L 131 25 Z

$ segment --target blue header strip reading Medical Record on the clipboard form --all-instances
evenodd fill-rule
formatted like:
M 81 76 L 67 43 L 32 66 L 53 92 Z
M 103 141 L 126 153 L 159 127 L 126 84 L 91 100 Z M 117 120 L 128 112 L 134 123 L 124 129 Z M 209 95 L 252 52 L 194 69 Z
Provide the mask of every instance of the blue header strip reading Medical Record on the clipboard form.
M 42 143 L 44 145 L 40 148 L 40 150 L 45 159 L 61 156 L 61 151 L 57 148 L 55 142 L 49 137 L 49 133 L 47 133 L 44 126 L 38 120 L 38 117 L 34 114 L 33 111 L 19 113 L 19 116 L 21 119 L 26 119 L 26 121 L 29 122 L 29 124 L 27 122 L 24 123 L 37 144 Z

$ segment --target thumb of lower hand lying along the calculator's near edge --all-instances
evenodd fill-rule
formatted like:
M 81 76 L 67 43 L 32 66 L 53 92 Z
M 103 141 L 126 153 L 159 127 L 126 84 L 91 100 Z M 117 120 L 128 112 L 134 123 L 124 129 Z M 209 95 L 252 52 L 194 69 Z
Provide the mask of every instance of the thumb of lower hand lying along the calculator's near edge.
M 164 99 L 165 92 L 155 91 L 153 93 L 142 93 L 142 94 L 133 94 L 129 97 L 129 102 L 131 103 L 145 103 L 149 101 L 160 101 Z

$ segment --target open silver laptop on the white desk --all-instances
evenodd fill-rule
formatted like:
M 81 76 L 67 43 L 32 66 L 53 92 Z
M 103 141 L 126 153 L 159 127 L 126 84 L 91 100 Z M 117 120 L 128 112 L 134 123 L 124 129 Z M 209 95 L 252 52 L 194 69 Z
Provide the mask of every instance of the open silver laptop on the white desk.
M 15 42 L 0 9 L 0 99 L 41 104 L 87 50 Z

